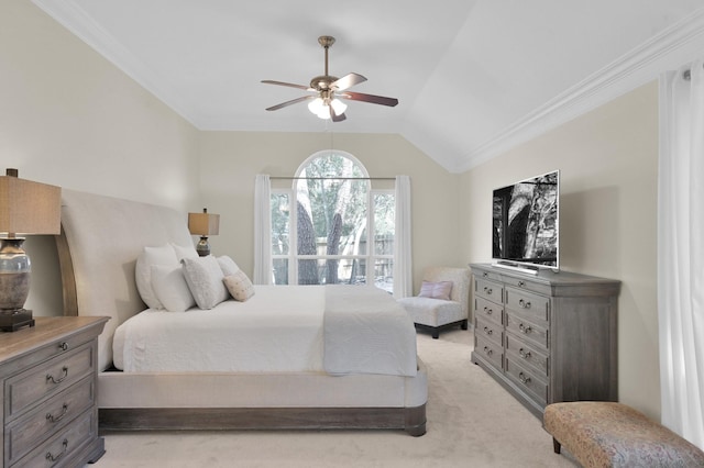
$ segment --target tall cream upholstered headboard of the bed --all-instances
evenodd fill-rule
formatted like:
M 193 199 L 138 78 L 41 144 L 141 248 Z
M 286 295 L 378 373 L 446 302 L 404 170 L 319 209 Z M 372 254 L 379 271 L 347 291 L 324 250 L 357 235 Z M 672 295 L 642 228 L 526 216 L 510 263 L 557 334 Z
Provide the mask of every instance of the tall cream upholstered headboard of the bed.
M 112 364 L 112 335 L 146 309 L 134 267 L 145 246 L 193 245 L 187 214 L 166 207 L 62 190 L 62 234 L 57 237 L 64 315 L 109 316 L 98 339 L 98 360 Z

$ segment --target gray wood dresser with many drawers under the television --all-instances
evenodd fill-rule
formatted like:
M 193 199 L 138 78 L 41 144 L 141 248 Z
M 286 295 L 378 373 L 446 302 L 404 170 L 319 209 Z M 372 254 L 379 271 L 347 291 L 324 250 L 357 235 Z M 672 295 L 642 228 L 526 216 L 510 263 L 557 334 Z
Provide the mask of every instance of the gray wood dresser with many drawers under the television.
M 620 282 L 471 264 L 474 350 L 536 416 L 561 401 L 617 401 Z

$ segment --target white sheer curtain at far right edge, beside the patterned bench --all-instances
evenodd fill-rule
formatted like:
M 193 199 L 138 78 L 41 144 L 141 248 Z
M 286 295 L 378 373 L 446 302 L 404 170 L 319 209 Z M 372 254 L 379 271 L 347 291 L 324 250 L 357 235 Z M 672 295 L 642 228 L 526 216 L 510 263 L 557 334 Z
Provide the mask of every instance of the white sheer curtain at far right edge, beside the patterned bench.
M 704 448 L 704 62 L 660 79 L 662 423 Z

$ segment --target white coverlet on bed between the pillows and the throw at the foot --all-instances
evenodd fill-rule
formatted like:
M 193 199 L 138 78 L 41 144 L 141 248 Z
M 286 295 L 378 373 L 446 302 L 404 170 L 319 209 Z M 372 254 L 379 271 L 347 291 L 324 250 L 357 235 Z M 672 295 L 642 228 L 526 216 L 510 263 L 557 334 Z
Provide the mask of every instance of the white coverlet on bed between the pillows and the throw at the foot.
M 256 286 L 246 302 L 165 312 L 118 327 L 113 359 L 125 372 L 322 370 L 323 287 Z

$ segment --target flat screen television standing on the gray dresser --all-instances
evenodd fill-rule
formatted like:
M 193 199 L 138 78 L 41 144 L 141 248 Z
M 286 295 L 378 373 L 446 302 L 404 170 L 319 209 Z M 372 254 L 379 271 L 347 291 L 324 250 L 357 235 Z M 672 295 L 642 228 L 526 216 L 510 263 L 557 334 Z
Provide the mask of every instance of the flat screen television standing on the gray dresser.
M 559 170 L 494 190 L 494 264 L 527 272 L 559 269 Z

